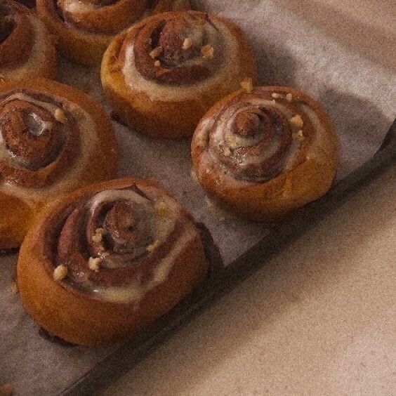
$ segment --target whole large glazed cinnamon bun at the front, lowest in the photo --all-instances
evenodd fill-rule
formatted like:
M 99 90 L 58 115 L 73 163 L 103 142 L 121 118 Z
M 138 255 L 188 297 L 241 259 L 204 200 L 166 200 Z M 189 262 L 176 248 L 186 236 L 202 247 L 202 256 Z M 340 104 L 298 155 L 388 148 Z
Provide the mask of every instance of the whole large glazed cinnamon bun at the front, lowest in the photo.
M 213 240 L 146 180 L 91 185 L 48 206 L 18 260 L 25 309 L 79 345 L 133 336 L 201 284 Z M 216 248 L 215 248 L 216 249 Z

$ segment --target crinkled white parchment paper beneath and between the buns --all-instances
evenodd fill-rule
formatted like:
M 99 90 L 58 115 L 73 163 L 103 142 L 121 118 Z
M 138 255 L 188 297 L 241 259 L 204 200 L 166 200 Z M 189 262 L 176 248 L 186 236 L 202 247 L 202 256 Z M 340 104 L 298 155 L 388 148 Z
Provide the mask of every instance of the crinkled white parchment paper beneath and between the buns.
M 345 48 L 275 0 L 208 0 L 195 5 L 242 26 L 256 51 L 260 84 L 297 86 L 324 105 L 341 141 L 338 179 L 371 159 L 396 115 L 396 77 L 390 68 Z M 105 104 L 97 69 L 60 59 L 59 79 Z M 222 215 L 209 208 L 190 174 L 189 141 L 154 140 L 113 125 L 119 142 L 119 176 L 152 177 L 171 190 L 209 226 L 225 263 L 270 231 L 270 225 L 221 220 Z M 11 289 L 16 260 L 16 255 L 0 256 L 0 385 L 12 383 L 15 395 L 53 395 L 114 347 L 66 348 L 39 337 L 37 325 Z

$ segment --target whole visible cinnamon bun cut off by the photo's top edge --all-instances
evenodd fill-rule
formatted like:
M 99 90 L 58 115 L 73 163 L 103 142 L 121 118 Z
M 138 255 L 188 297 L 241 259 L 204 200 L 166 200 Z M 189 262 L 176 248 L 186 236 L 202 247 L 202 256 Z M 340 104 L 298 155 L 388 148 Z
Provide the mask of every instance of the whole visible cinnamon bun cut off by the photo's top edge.
M 99 64 L 112 38 L 139 20 L 189 8 L 189 0 L 37 0 L 62 53 L 87 65 Z

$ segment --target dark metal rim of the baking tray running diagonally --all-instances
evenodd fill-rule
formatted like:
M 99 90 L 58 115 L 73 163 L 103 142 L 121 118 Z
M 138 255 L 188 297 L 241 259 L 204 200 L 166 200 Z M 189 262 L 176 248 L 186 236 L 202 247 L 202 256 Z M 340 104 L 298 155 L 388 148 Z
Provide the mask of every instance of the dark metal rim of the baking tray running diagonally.
M 81 376 L 58 395 L 92 395 L 131 369 L 154 347 L 163 343 L 194 315 L 213 301 L 262 268 L 284 247 L 298 239 L 313 225 L 343 205 L 352 194 L 367 185 L 374 177 L 396 163 L 396 119 L 383 140 L 381 148 L 366 164 L 338 181 L 321 199 L 308 204 L 280 223 L 270 235 L 239 256 L 216 278 L 206 282 L 199 290 L 185 298 L 167 315 L 158 319 L 143 333 L 123 343 L 101 362 Z

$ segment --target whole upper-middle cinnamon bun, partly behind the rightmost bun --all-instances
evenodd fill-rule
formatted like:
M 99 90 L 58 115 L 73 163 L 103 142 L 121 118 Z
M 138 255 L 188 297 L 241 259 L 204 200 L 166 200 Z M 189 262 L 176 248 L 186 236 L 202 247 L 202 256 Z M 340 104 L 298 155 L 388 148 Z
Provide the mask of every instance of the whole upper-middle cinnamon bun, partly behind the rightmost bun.
M 124 123 L 162 138 L 192 135 L 202 115 L 256 62 L 241 29 L 186 11 L 147 18 L 120 34 L 103 57 L 102 84 Z

